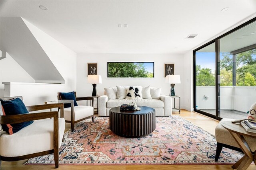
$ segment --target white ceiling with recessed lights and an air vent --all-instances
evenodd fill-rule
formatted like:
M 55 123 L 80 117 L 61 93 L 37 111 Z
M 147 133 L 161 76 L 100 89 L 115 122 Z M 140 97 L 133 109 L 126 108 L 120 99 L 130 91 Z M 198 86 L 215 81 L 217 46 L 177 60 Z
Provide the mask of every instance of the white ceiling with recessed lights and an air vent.
M 1 0 L 0 10 L 1 17 L 20 16 L 76 53 L 185 53 L 256 16 L 256 0 Z M 185 39 L 190 34 L 198 36 Z

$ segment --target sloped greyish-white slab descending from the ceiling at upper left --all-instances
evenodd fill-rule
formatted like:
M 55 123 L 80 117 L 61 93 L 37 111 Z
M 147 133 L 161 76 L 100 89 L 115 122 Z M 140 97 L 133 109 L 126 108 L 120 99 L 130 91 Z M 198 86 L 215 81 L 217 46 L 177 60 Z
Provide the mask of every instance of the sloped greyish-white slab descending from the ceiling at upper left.
M 21 17 L 1 17 L 0 49 L 34 78 L 41 82 L 62 82 L 64 79 Z

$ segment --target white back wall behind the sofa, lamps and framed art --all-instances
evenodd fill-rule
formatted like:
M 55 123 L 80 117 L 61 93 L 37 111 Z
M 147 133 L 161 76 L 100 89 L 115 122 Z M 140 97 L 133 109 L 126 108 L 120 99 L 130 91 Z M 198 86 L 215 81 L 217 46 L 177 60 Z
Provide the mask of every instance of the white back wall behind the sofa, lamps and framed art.
M 131 61 L 154 62 L 154 78 L 107 78 L 107 62 Z M 174 74 L 179 74 L 181 84 L 175 85 L 175 94 L 183 98 L 182 84 L 184 84 L 183 55 L 181 54 L 78 54 L 77 56 L 77 95 L 92 95 L 92 84 L 87 83 L 87 63 L 97 63 L 97 74 L 102 76 L 102 84 L 97 85 L 98 95 L 104 94 L 105 87 L 120 86 L 148 86 L 162 87 L 162 94 L 169 95 L 170 84 L 165 83 L 164 63 L 174 63 Z M 176 102 L 178 106 L 178 102 Z M 176 106 L 176 107 L 177 107 Z

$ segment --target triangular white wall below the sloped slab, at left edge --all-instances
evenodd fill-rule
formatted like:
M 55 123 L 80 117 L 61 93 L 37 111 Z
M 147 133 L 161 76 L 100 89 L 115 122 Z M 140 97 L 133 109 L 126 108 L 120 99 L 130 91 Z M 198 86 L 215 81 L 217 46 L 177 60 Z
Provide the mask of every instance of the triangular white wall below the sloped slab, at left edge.
M 28 72 L 26 72 L 8 53 L 6 58 L 0 63 L 0 97 L 4 97 L 4 84 L 2 82 L 35 82 Z

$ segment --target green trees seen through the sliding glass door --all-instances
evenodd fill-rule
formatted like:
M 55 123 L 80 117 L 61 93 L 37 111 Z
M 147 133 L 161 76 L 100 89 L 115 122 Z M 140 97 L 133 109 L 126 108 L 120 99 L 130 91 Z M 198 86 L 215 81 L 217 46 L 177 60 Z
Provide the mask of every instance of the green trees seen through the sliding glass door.
M 220 86 L 232 86 L 233 59 L 230 53 L 222 53 L 220 61 Z M 215 86 L 210 68 L 196 65 L 196 86 Z M 236 55 L 236 86 L 256 86 L 256 49 Z

